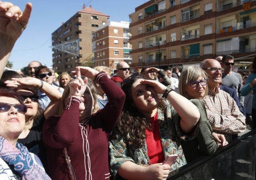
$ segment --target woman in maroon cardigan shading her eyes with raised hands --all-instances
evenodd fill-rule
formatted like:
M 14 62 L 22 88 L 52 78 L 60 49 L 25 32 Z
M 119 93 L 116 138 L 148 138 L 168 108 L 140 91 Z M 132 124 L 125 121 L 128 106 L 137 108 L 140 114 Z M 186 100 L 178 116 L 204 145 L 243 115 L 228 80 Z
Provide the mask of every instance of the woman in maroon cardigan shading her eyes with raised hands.
M 85 76 L 84 80 L 81 75 Z M 106 106 L 96 113 L 93 112 L 97 109 L 97 96 L 87 78 L 95 78 L 109 98 Z M 43 140 L 47 149 L 49 176 L 53 180 L 71 179 L 65 148 L 77 180 L 110 178 L 108 138 L 124 101 L 124 92 L 104 71 L 77 67 L 77 79 L 70 81 L 63 93 L 61 115 L 56 115 L 60 106 L 58 103 L 50 105 L 45 111 L 47 120 L 43 127 Z

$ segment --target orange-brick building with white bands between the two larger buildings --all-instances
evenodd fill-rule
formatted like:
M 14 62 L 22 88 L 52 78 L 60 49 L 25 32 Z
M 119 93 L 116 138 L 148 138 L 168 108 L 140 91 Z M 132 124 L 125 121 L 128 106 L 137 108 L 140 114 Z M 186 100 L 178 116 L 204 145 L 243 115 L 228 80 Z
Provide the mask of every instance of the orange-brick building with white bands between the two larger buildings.
M 120 61 L 131 64 L 131 37 L 129 22 L 110 21 L 93 33 L 93 53 L 95 66 L 107 66 L 112 70 Z

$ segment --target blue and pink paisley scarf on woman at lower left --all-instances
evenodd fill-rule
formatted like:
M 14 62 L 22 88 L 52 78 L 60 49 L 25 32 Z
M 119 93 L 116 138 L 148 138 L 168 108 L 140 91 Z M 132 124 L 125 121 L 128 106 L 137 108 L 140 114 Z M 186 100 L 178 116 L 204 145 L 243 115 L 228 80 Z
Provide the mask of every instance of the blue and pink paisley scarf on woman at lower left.
M 50 177 L 33 162 L 26 146 L 17 142 L 16 147 L 0 136 L 0 157 L 22 176 L 22 180 L 50 180 Z

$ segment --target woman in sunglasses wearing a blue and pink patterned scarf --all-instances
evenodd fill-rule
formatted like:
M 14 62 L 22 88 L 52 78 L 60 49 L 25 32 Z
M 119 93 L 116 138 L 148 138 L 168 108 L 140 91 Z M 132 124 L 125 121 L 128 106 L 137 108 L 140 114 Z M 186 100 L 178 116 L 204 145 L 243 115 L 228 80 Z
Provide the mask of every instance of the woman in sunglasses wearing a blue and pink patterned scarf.
M 50 180 L 39 158 L 17 142 L 28 107 L 16 92 L 0 89 L 0 179 Z

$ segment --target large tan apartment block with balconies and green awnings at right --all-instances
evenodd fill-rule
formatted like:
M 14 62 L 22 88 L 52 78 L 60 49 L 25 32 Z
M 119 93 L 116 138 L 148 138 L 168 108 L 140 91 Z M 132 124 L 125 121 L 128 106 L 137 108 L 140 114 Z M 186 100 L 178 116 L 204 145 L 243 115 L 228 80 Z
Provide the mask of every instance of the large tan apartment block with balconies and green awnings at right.
M 233 55 L 239 68 L 256 52 L 256 0 L 150 0 L 130 14 L 132 67 L 186 67 Z

